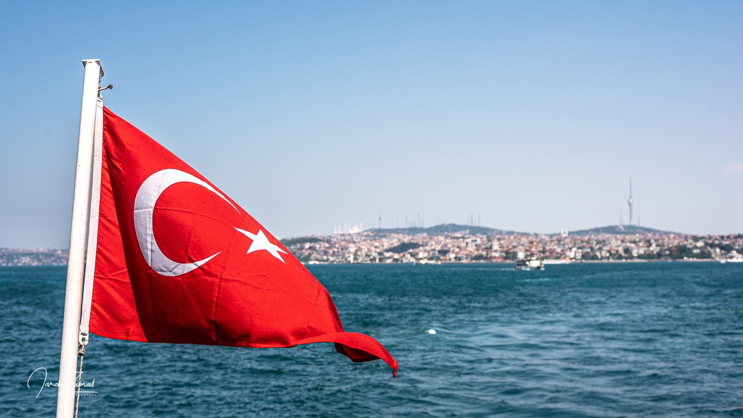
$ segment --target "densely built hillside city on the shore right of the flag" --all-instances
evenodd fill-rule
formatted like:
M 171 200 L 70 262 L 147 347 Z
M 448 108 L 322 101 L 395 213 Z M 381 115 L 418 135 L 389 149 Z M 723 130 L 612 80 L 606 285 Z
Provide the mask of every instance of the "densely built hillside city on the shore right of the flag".
M 611 233 L 610 233 L 611 232 Z M 448 224 L 428 229 L 369 229 L 282 240 L 309 264 L 724 260 L 743 252 L 743 235 L 695 236 L 639 226 L 537 235 Z

